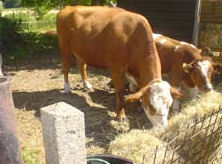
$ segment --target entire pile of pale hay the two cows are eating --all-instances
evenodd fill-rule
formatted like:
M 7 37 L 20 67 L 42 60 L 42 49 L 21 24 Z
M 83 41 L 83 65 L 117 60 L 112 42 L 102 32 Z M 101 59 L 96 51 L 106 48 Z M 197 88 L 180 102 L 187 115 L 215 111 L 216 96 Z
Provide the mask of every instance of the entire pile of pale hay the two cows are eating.
M 205 114 L 210 114 L 214 109 L 218 109 L 219 106 L 222 106 L 222 94 L 219 92 L 212 91 L 197 100 L 193 100 L 185 104 L 182 107 L 182 112 L 179 114 L 175 114 L 169 120 L 169 125 L 163 129 L 151 129 L 151 130 L 132 130 L 129 133 L 122 134 L 116 138 L 113 142 L 111 142 L 109 147 L 109 153 L 114 155 L 120 155 L 127 157 L 137 163 L 141 163 L 145 156 L 145 164 L 149 164 L 153 162 L 155 147 L 158 145 L 159 150 L 157 153 L 156 163 L 162 163 L 163 153 L 165 152 L 166 142 L 172 139 L 175 139 L 172 145 L 170 145 L 171 149 L 175 149 L 176 147 L 182 145 L 181 149 L 176 153 L 182 154 L 182 158 L 192 160 L 191 162 L 198 160 L 195 156 L 195 153 L 200 151 L 203 155 L 202 160 L 206 160 L 208 158 L 214 158 L 215 161 L 221 160 L 222 152 L 219 151 L 221 148 L 221 141 L 216 142 L 220 133 L 212 136 L 210 139 L 206 139 L 198 146 L 195 146 L 197 142 L 202 141 L 201 139 L 205 137 L 206 131 L 201 131 L 192 139 L 189 139 L 194 132 L 197 132 L 200 129 L 201 125 L 197 125 L 195 130 L 190 128 L 192 124 L 195 123 L 195 120 L 200 120 Z M 222 117 L 222 113 L 220 112 L 218 118 Z M 211 122 L 216 119 L 216 116 L 212 117 Z M 203 126 L 207 126 L 209 120 L 203 124 Z M 214 128 L 217 128 L 218 123 L 215 124 Z M 189 128 L 190 130 L 188 130 Z M 209 134 L 212 130 L 209 129 Z M 181 132 L 182 131 L 182 132 Z M 187 131 L 187 133 L 185 133 Z M 186 143 L 184 143 L 184 138 Z M 219 145 L 219 148 L 214 148 L 213 152 L 208 152 L 210 148 L 213 148 L 216 144 Z M 191 147 L 194 148 L 192 150 Z M 203 149 L 203 147 L 205 148 Z M 216 153 L 217 152 L 217 153 Z M 216 155 L 215 155 L 216 154 Z M 160 157 L 158 157 L 160 156 Z M 174 159 L 177 154 L 174 154 Z M 171 160 L 172 151 L 169 150 L 166 155 L 166 161 Z M 181 159 L 183 160 L 183 159 Z M 202 161 L 203 162 L 203 161 Z M 206 161 L 205 161 L 206 162 Z

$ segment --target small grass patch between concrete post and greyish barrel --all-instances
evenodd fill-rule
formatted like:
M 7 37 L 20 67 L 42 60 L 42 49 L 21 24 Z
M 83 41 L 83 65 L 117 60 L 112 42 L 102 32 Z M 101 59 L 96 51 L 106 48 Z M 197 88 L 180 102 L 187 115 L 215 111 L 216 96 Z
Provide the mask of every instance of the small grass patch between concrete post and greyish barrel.
M 25 164 L 39 164 L 38 162 L 38 150 L 22 148 L 22 155 Z

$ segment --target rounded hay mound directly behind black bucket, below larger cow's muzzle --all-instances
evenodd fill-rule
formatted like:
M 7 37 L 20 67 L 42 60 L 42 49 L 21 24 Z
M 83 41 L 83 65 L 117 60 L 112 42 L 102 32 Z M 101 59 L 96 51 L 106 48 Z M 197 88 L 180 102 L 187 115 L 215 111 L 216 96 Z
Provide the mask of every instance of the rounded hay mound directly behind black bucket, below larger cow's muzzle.
M 148 130 L 132 130 L 119 135 L 112 141 L 108 152 L 113 155 L 129 158 L 136 163 L 143 162 L 144 164 L 151 164 L 153 163 L 157 147 L 156 163 L 162 163 L 164 158 L 165 162 L 169 162 L 172 159 L 173 153 L 169 149 L 166 157 L 164 157 L 166 143 L 150 135 Z M 175 154 L 175 156 L 177 155 Z

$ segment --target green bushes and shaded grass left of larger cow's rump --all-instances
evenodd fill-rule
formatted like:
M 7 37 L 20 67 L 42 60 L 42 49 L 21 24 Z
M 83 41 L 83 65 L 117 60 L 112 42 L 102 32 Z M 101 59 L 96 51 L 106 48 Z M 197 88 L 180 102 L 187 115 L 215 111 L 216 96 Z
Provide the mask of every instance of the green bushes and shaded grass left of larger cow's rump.
M 0 17 L 0 51 L 7 62 L 21 60 L 28 55 L 50 53 L 57 48 L 55 35 L 44 34 L 55 30 L 56 14 L 38 14 L 31 9 L 2 10 Z

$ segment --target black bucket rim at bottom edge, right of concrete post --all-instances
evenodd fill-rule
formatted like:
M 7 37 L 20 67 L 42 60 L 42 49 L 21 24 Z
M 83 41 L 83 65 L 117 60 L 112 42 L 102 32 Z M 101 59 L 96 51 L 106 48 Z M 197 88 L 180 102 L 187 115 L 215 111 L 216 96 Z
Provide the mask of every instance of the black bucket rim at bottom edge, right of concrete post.
M 87 164 L 136 164 L 135 162 L 114 155 L 92 155 L 87 157 Z

